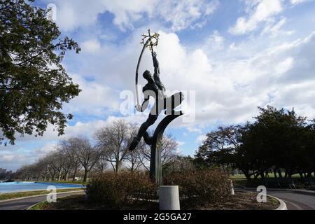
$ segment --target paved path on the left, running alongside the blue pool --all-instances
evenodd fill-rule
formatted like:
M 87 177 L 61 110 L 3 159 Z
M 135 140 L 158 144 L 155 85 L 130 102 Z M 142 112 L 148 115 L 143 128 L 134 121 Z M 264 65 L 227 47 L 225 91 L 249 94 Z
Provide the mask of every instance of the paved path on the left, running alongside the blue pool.
M 74 193 L 59 193 L 58 197 L 70 196 L 70 195 L 78 195 L 83 194 L 84 192 L 74 192 Z M 20 200 L 13 200 L 9 202 L 0 202 L 0 210 L 25 210 L 31 207 L 38 202 L 44 202 L 46 200 L 46 195 L 38 196 L 38 197 L 29 197 Z

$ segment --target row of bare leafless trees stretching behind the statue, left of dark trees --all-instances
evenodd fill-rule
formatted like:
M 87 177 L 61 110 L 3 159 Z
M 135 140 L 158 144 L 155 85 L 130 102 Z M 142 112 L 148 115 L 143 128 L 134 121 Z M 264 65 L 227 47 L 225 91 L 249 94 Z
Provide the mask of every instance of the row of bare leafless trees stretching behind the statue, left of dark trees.
M 70 137 L 57 144 L 52 153 L 32 165 L 18 169 L 15 179 L 23 180 L 68 180 L 74 181 L 83 171 L 83 181 L 90 172 L 103 173 L 113 169 L 118 174 L 121 169 L 135 172 L 149 169 L 151 149 L 141 142 L 137 150 L 130 152 L 128 146 L 138 127 L 118 120 L 94 133 L 90 141 L 85 137 Z M 172 136 L 162 139 L 162 164 L 166 165 L 176 158 L 178 144 Z

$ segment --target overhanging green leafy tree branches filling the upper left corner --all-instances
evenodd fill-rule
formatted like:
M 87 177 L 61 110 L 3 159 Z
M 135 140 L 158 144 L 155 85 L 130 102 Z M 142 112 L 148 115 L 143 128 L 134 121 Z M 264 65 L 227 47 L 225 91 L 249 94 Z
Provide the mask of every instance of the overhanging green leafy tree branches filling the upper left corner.
M 78 44 L 59 38 L 48 11 L 33 1 L 0 2 L 0 143 L 14 144 L 16 132 L 42 135 L 48 123 L 64 134 L 72 115 L 60 111 L 62 103 L 80 92 L 61 64 Z

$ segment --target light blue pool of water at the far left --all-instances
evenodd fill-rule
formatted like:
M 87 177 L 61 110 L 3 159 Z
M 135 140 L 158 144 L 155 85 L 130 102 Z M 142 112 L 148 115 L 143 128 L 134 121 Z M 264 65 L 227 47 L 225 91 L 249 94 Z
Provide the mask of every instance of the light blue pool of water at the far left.
M 8 183 L 0 183 L 0 194 L 1 193 L 15 193 L 19 191 L 29 191 L 29 190 L 47 190 L 48 186 L 55 186 L 55 188 L 57 189 L 83 187 L 83 185 L 80 185 L 80 184 L 69 184 L 69 183 L 8 182 Z

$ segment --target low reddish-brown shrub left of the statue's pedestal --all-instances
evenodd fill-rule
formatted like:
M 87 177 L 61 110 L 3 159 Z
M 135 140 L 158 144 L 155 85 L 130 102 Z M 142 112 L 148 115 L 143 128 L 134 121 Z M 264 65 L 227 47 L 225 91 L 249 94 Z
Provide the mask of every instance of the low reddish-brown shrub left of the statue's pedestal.
M 141 172 L 112 172 L 94 177 L 87 184 L 87 198 L 90 202 L 103 204 L 109 209 L 123 209 L 131 204 L 148 201 L 156 195 L 157 188 L 148 176 Z

